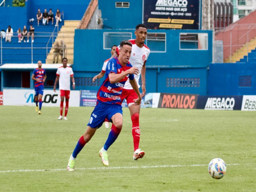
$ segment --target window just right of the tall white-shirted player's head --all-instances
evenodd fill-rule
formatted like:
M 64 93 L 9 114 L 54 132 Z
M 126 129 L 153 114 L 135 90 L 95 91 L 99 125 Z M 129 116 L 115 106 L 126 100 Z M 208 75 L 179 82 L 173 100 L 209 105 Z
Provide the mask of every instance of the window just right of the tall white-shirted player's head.
M 146 45 L 150 52 L 166 52 L 166 33 L 148 33 Z

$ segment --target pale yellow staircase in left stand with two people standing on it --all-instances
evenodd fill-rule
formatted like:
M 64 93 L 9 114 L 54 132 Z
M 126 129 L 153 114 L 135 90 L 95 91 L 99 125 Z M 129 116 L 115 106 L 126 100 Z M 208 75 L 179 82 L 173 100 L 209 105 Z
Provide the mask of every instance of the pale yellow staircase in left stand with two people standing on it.
M 62 40 L 64 44 L 66 44 L 66 47 L 67 47 L 66 58 L 68 58 L 69 64 L 74 63 L 74 35 L 75 35 L 75 29 L 77 28 L 79 23 L 80 23 L 80 20 L 65 20 L 64 25 L 60 29 L 58 36 L 54 41 L 54 43 L 58 42 L 60 44 L 60 41 Z M 54 48 L 52 48 L 50 50 L 50 53 L 47 55 L 47 58 L 46 58 L 47 64 L 53 63 L 53 51 L 54 51 Z M 59 56 L 58 63 L 61 63 L 60 56 Z

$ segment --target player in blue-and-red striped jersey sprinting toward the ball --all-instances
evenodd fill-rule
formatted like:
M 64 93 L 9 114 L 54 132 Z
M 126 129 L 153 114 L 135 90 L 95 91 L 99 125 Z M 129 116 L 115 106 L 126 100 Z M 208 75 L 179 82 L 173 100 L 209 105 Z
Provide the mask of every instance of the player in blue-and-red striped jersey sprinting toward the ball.
M 91 114 L 87 129 L 84 135 L 78 140 L 68 161 L 67 169 L 69 171 L 74 171 L 76 156 L 82 150 L 84 145 L 90 141 L 96 130 L 102 126 L 105 118 L 112 122 L 112 128 L 104 146 L 99 151 L 99 156 L 102 158 L 104 166 L 108 166 L 107 150 L 115 142 L 122 129 L 123 112 L 121 106 L 121 94 L 128 78 L 130 79 L 130 84 L 138 95 L 138 98 L 134 99 L 134 105 L 140 104 L 141 101 L 140 91 L 134 80 L 134 74 L 138 74 L 138 69 L 132 67 L 129 62 L 131 52 L 131 42 L 122 41 L 120 43 L 120 54 L 118 58 L 109 60 L 104 77 L 105 79 L 97 92 L 97 104 Z

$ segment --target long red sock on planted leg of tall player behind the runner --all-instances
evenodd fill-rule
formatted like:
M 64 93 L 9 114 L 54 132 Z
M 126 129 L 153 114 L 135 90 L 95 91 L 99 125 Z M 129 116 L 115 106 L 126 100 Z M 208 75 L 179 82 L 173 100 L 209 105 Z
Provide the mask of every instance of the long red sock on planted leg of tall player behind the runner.
M 139 148 L 140 144 L 140 124 L 139 124 L 139 114 L 135 113 L 132 115 L 132 136 L 134 151 Z

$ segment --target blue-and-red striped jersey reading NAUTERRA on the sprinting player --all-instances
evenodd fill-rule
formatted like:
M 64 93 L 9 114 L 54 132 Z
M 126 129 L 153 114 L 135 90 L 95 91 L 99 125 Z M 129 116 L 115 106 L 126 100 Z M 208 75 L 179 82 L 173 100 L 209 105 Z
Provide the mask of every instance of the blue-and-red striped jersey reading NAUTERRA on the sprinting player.
M 102 102 L 106 104 L 118 104 L 118 105 L 122 104 L 121 94 L 122 94 L 122 89 L 124 87 L 124 84 L 128 80 L 128 78 L 130 80 L 133 80 L 134 75 L 129 74 L 125 76 L 122 80 L 114 84 L 110 83 L 108 76 L 110 73 L 121 74 L 122 72 L 130 68 L 132 68 L 132 65 L 130 64 L 130 62 L 126 63 L 125 66 L 122 66 L 118 58 L 116 57 L 108 61 L 106 74 L 104 76 L 105 79 L 97 92 L 98 102 Z

